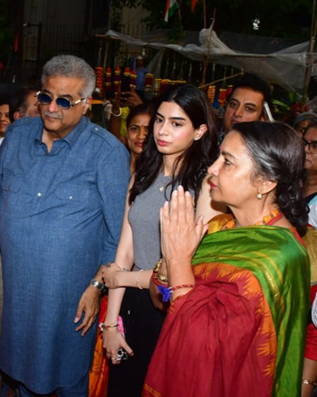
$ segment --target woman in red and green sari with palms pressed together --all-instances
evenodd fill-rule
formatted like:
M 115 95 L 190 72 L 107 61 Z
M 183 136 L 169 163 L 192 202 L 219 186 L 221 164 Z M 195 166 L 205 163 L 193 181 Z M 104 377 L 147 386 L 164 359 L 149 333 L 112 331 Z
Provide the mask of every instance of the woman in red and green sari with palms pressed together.
M 188 193 L 174 193 L 170 212 L 164 205 L 160 271 L 166 264 L 170 287 L 160 289 L 173 303 L 144 396 L 300 395 L 310 281 L 294 229 L 307 222 L 303 164 L 291 127 L 235 124 L 208 169 L 211 199 L 234 214 L 209 225 L 222 230 L 197 249 L 205 227 Z

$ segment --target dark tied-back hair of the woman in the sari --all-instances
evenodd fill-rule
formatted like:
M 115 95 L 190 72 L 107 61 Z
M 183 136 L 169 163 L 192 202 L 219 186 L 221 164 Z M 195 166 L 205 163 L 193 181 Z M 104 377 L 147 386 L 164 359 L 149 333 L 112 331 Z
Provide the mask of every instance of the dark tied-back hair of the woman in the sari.
M 296 228 L 308 222 L 303 200 L 305 151 L 297 132 L 283 122 L 251 121 L 233 126 L 244 140 L 255 174 L 276 182 L 275 197 L 284 216 Z

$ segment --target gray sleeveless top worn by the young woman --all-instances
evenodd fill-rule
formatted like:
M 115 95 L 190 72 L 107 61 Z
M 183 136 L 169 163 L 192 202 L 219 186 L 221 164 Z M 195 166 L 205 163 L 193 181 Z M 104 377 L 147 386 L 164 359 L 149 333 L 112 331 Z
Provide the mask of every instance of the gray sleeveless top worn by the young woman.
M 139 194 L 130 206 L 128 219 L 133 235 L 134 270 L 152 269 L 161 257 L 159 208 L 170 198 L 171 177 L 159 172 L 152 185 Z

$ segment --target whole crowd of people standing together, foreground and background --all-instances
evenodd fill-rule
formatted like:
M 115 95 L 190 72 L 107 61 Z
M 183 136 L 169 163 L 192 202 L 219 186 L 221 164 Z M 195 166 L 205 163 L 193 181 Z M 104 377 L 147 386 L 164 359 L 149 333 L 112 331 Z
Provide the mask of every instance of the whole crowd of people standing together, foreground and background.
M 107 131 L 94 88 L 57 55 L 0 102 L 1 396 L 312 396 L 317 114 L 245 74 L 221 121 L 186 84 Z

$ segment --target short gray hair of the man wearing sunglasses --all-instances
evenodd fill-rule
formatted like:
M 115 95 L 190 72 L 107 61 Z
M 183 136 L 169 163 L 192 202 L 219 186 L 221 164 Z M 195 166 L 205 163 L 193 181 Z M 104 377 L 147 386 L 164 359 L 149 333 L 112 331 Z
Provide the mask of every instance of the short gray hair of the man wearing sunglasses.
M 87 98 L 92 95 L 96 86 L 96 75 L 91 66 L 82 58 L 74 55 L 57 55 L 44 64 L 42 83 L 48 77 L 75 77 L 84 81 L 81 95 Z

